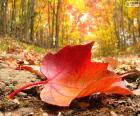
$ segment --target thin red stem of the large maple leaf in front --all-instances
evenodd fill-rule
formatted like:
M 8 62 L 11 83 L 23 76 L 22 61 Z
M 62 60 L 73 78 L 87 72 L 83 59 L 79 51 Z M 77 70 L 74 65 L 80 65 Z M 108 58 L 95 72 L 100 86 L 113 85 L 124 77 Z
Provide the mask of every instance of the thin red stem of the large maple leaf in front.
M 9 99 L 12 99 L 16 94 L 18 94 L 19 92 L 21 92 L 22 90 L 28 88 L 28 87 L 32 87 L 32 86 L 36 86 L 36 85 L 42 85 L 42 84 L 46 84 L 48 83 L 48 80 L 45 80 L 45 81 L 41 81 L 41 82 L 35 82 L 35 83 L 30 83 L 30 84 L 27 84 L 17 90 L 15 90 L 14 92 L 12 92 L 11 94 L 8 95 L 8 98 Z

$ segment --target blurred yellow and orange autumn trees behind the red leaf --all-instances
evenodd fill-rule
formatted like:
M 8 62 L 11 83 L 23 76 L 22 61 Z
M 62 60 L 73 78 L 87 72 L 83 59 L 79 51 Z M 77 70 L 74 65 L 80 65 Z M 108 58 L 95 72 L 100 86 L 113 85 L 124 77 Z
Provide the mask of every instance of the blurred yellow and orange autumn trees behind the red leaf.
M 0 47 L 3 40 L 51 50 L 95 41 L 96 56 L 137 54 L 140 1 L 0 0 Z

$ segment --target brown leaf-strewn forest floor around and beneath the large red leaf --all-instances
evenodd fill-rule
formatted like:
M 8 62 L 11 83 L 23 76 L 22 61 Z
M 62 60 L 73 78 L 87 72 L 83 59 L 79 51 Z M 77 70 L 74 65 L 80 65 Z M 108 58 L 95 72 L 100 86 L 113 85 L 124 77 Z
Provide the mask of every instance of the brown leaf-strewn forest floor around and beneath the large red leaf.
M 41 86 L 20 92 L 14 99 L 7 99 L 13 90 L 44 77 L 22 66 L 39 68 L 43 54 L 19 44 L 0 51 L 0 116 L 140 116 L 140 58 L 138 56 L 95 59 L 109 63 L 110 70 L 128 74 L 127 87 L 137 95 L 91 95 L 75 99 L 69 107 L 58 107 L 40 100 Z M 2 42 L 1 42 L 2 43 Z M 0 44 L 1 44 L 0 43 Z M 12 42 L 10 42 L 12 43 Z M 40 49 L 39 49 L 40 50 Z

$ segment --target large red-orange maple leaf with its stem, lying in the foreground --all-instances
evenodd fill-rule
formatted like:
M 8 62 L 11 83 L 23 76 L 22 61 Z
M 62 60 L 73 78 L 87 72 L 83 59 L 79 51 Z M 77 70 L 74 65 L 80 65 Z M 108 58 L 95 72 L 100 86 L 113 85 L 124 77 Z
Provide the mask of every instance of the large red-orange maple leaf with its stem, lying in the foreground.
M 41 91 L 41 100 L 58 106 L 68 106 L 75 98 L 95 93 L 132 94 L 124 86 L 122 77 L 107 70 L 107 63 L 91 62 L 93 42 L 86 45 L 66 46 L 56 54 L 47 54 L 41 65 L 41 72 L 47 81 Z M 31 84 L 33 85 L 37 85 Z M 19 91 L 13 92 L 13 97 Z

